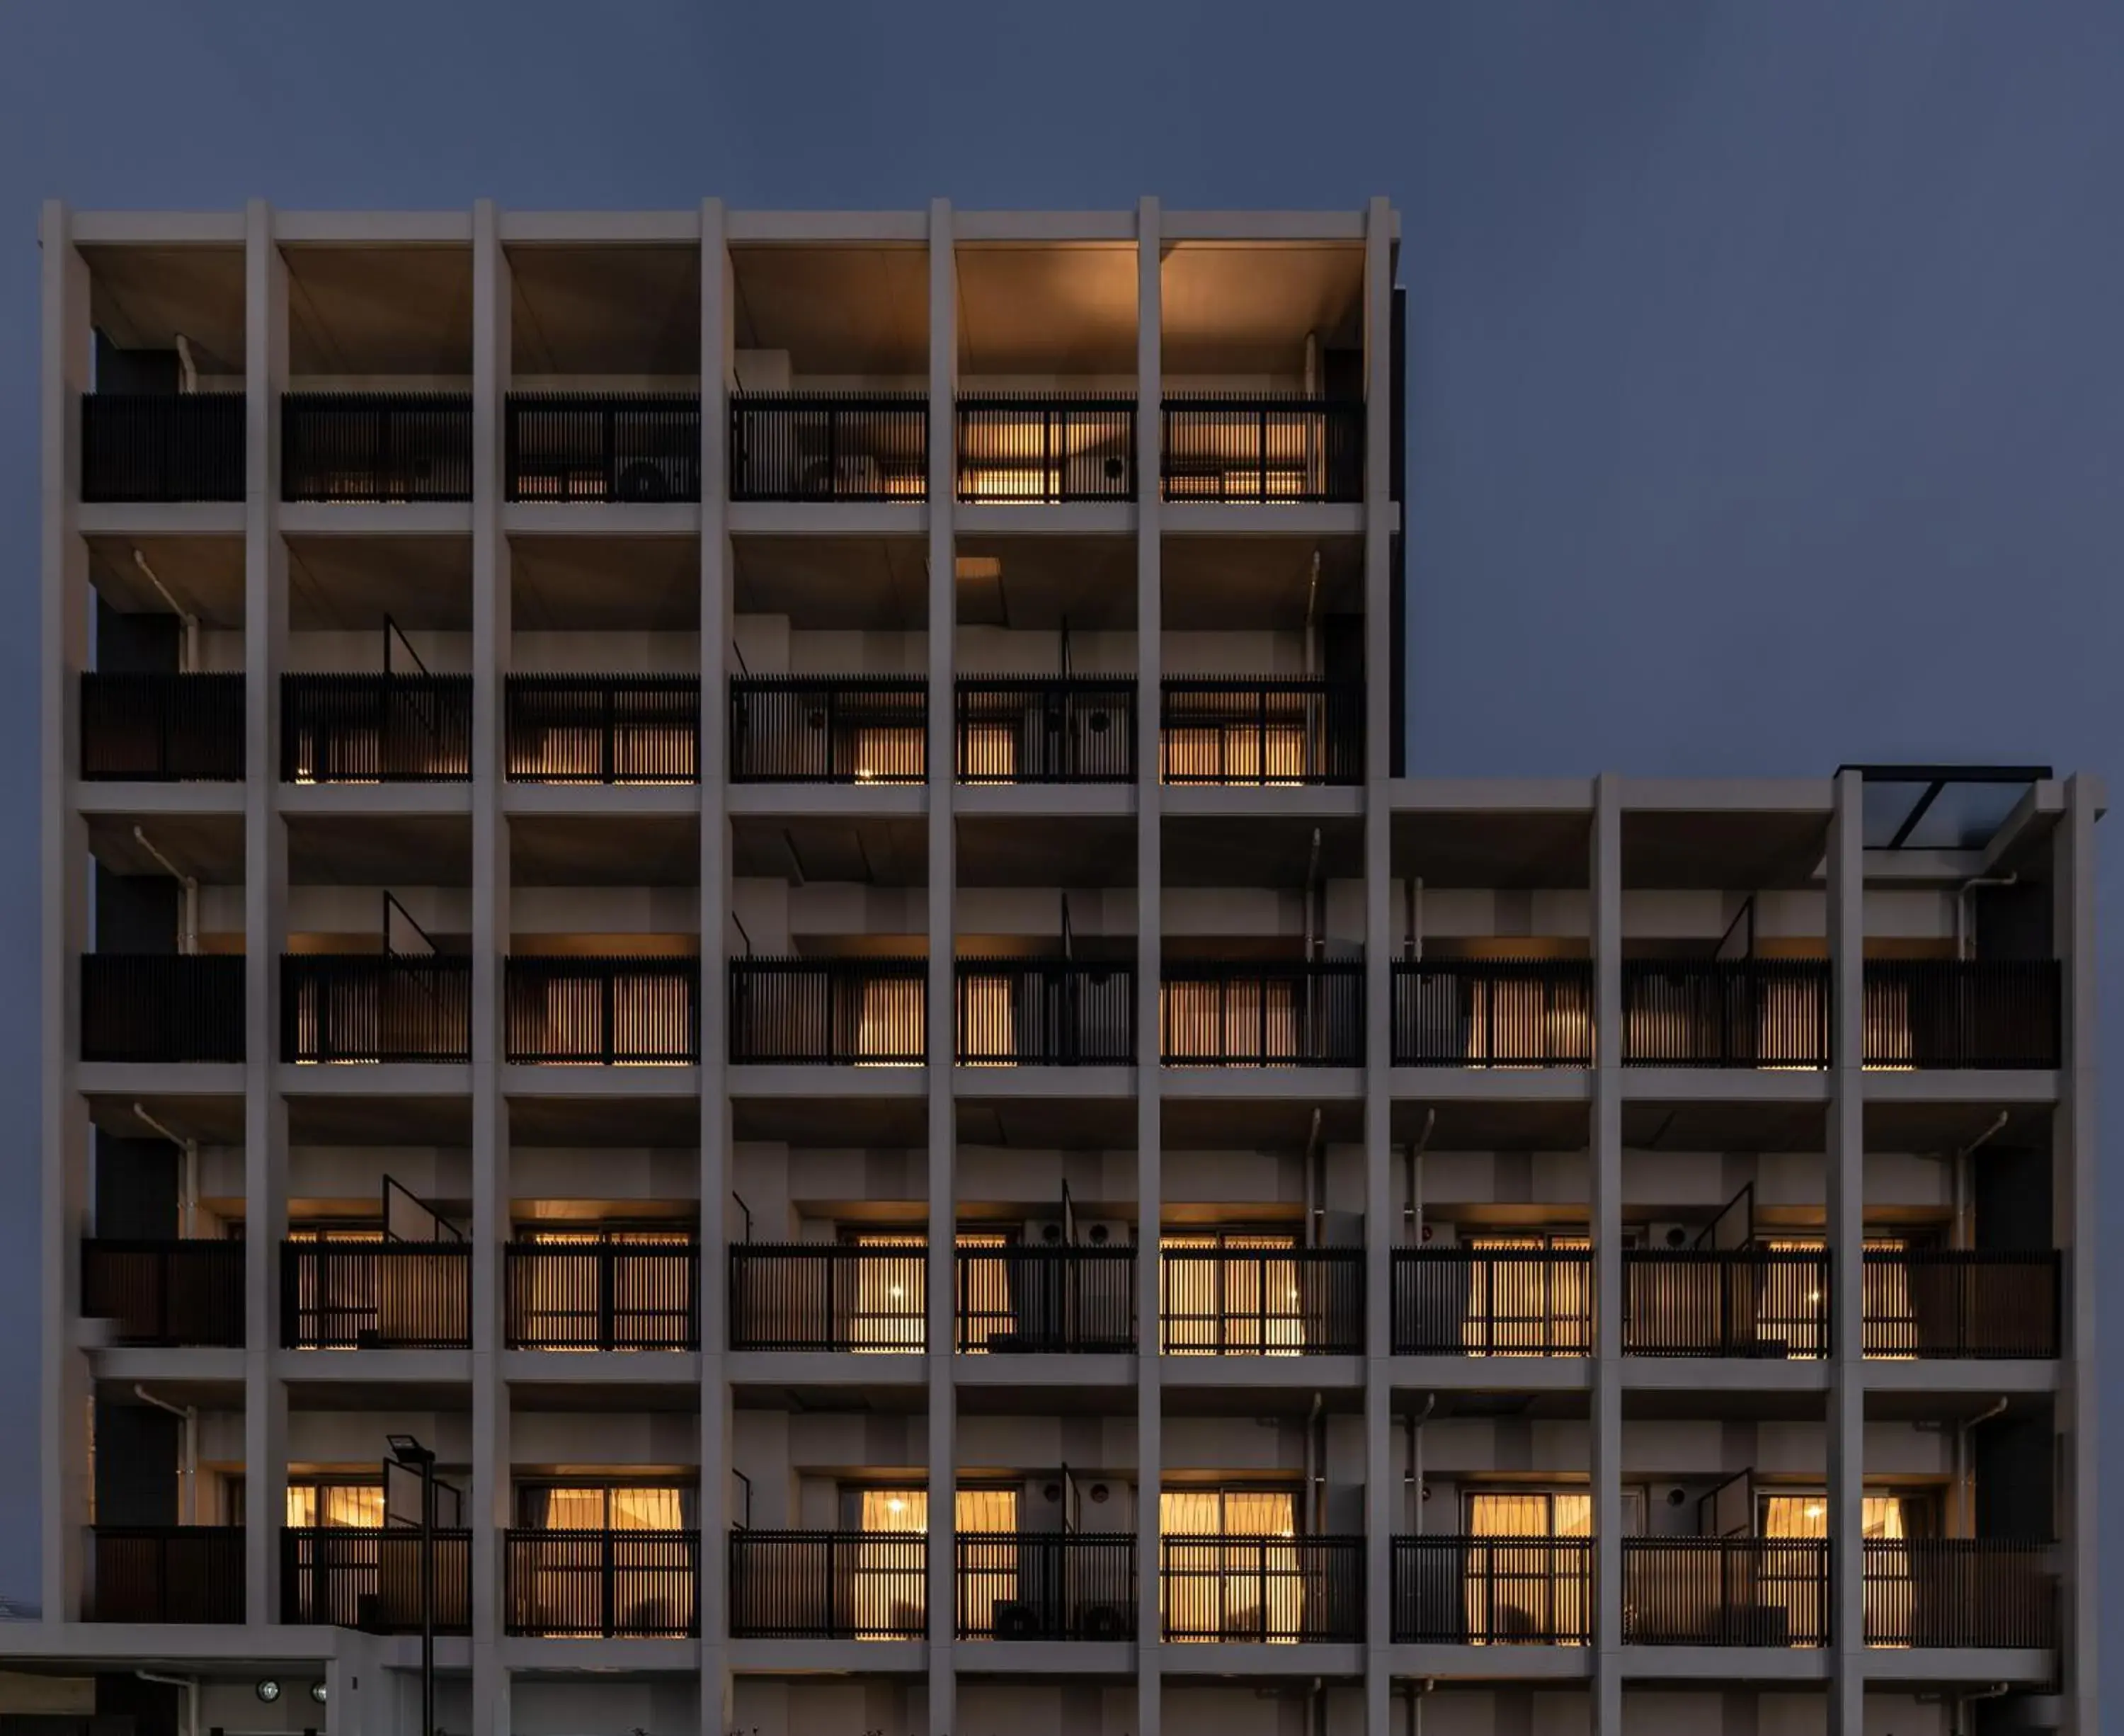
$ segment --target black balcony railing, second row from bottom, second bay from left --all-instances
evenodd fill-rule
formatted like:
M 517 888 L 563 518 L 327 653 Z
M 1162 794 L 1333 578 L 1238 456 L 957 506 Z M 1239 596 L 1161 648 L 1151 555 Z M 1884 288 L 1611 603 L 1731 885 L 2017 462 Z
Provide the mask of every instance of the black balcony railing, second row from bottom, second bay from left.
M 285 1241 L 285 1349 L 463 1349 L 472 1343 L 472 1245 Z

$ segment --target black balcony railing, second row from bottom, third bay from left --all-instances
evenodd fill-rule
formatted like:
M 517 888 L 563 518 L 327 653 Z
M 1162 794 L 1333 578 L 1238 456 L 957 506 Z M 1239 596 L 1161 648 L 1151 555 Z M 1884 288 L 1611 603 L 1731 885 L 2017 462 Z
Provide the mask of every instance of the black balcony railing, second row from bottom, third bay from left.
M 699 1349 L 695 1243 L 512 1241 L 503 1254 L 510 1349 Z

